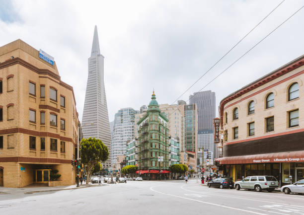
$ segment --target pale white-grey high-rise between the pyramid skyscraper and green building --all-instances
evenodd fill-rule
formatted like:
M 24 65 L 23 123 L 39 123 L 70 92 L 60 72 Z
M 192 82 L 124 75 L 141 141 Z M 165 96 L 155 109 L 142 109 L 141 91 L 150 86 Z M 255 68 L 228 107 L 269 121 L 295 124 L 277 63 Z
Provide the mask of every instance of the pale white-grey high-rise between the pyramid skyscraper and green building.
M 126 143 L 134 139 L 135 115 L 139 111 L 122 108 L 115 114 L 111 143 L 111 164 L 117 162 L 118 155 L 126 155 Z

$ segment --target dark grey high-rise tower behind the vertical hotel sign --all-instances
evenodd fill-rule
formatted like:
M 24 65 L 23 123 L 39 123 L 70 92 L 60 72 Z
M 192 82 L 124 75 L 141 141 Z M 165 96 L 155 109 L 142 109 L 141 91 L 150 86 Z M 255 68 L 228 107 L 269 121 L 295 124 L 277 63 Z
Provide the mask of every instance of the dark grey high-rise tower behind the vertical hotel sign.
M 190 104 L 198 109 L 198 131 L 214 130 L 213 119 L 216 116 L 216 97 L 211 90 L 195 92 L 189 96 Z

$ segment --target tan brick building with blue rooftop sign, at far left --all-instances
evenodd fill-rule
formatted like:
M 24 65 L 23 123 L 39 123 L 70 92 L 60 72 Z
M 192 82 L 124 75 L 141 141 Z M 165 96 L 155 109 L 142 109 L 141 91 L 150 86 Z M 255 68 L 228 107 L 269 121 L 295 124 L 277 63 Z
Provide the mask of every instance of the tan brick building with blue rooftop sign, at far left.
M 0 186 L 75 183 L 78 114 L 73 87 L 56 63 L 21 40 L 0 47 Z

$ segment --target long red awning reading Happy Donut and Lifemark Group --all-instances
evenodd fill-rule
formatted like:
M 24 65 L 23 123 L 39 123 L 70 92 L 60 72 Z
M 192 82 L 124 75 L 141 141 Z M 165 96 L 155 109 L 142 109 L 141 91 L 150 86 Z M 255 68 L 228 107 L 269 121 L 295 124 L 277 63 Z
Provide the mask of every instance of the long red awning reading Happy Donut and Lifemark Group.
M 217 160 L 220 161 L 220 164 L 304 162 L 304 151 L 221 157 Z

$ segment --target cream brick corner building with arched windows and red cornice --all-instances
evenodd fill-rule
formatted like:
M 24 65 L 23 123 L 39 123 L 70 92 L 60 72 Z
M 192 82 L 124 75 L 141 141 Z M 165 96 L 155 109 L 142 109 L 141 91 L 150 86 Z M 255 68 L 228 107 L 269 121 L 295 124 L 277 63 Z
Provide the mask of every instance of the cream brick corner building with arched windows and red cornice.
M 273 175 L 280 185 L 304 178 L 303 82 L 301 56 L 221 101 L 224 175 Z

